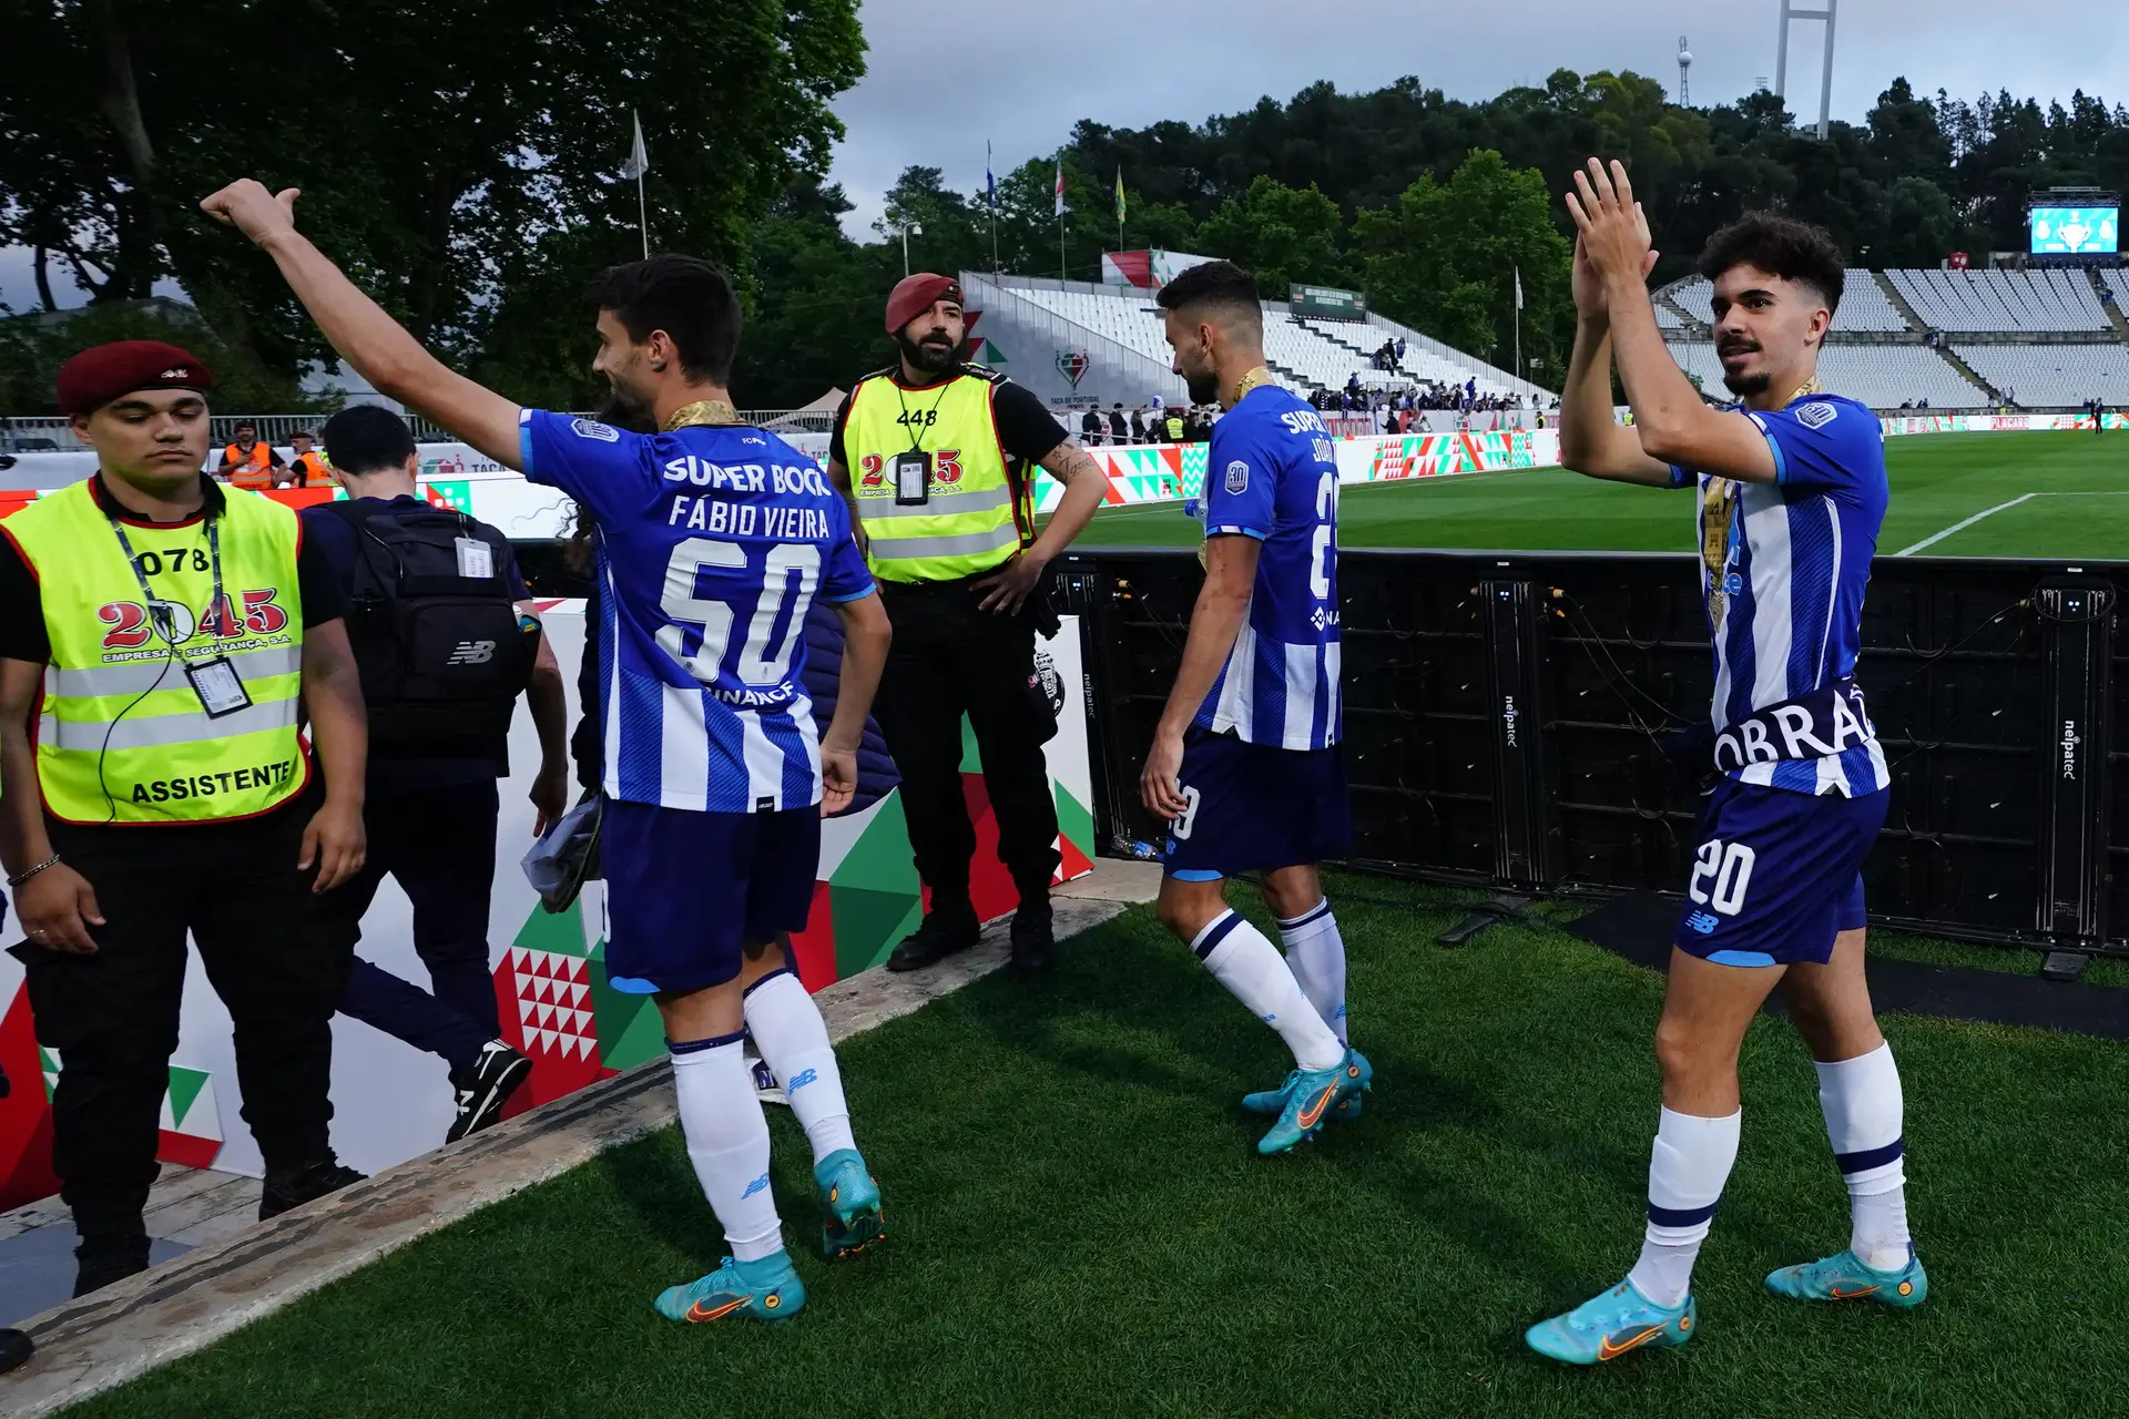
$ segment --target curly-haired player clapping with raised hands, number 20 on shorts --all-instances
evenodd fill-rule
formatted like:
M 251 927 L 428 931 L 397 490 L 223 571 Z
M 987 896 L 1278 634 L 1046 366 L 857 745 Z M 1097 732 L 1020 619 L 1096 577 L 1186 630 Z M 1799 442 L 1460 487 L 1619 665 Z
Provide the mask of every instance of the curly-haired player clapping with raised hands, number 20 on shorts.
M 1663 1113 L 1641 1257 L 1526 1336 L 1552 1359 L 1601 1364 L 1695 1334 L 1693 1259 L 1737 1159 L 1737 1049 L 1776 985 L 1818 1062 L 1852 1232 L 1839 1255 L 1786 1266 L 1767 1287 L 1916 1306 L 1929 1281 L 1908 1238 L 1899 1070 L 1863 979 L 1859 868 L 1891 774 L 1852 677 L 1886 479 L 1876 415 L 1816 377 L 1842 253 L 1822 230 L 1765 213 L 1707 240 L 1722 383 L 1744 400 L 1716 411 L 1656 332 L 1656 255 L 1627 170 L 1590 160 L 1575 189 L 1580 319 L 1561 455 L 1590 477 L 1695 489 L 1716 653 L 1714 787 L 1656 1023 Z M 1614 357 L 1633 428 L 1612 419 Z

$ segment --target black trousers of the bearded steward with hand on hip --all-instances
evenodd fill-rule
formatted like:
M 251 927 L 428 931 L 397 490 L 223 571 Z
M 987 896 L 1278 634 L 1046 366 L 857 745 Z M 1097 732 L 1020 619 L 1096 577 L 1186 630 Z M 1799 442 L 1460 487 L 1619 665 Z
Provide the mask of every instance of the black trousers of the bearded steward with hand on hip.
M 975 728 L 984 787 L 999 821 L 999 859 L 1024 902 L 1047 902 L 1058 808 L 1043 745 L 1056 719 L 1035 679 L 1035 623 L 977 608 L 967 581 L 881 581 L 894 645 L 873 717 L 903 777 L 903 815 L 933 902 L 969 900 L 975 825 L 960 791 L 960 719 Z

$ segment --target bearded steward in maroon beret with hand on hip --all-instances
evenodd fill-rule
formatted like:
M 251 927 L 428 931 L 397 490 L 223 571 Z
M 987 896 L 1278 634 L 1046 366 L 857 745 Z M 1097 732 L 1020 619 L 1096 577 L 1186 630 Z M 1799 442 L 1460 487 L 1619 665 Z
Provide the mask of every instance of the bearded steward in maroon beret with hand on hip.
M 1056 634 L 1050 562 L 1103 502 L 1094 460 L 1028 389 L 962 360 L 960 283 L 920 272 L 888 296 L 898 360 L 843 400 L 828 477 L 852 502 L 894 623 L 873 715 L 903 777 L 903 815 L 924 923 L 888 957 L 918 970 L 975 945 L 969 900 L 975 828 L 960 787 L 960 721 L 975 730 L 984 787 L 999 821 L 999 859 L 1020 891 L 1013 964 L 1052 964 L 1050 879 L 1058 866 L 1056 802 L 1043 742 L 1056 717 L 1035 674 L 1035 632 Z M 1035 468 L 1064 485 L 1041 536 Z M 856 474 L 856 477 L 854 477 Z

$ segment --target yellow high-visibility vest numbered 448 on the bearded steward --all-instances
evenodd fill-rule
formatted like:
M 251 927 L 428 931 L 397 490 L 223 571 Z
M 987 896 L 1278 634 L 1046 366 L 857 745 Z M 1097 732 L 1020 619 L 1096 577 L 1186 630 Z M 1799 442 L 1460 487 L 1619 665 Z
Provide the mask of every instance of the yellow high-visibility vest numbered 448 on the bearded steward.
M 1007 472 L 990 413 L 1001 374 L 975 364 L 943 385 L 903 389 L 869 374 L 849 391 L 843 455 L 864 523 L 867 562 L 881 581 L 954 581 L 986 572 L 1035 540 L 1026 481 Z M 924 502 L 896 502 L 894 460 L 930 455 Z

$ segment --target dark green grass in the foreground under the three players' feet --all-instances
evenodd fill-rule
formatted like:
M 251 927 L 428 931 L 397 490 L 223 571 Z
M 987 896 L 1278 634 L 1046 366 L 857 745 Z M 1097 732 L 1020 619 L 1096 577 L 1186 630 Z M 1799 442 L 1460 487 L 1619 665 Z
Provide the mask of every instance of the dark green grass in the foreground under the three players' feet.
M 1235 889 L 1237 900 L 1243 889 Z M 1373 904 L 1363 904 L 1363 898 Z M 717 1228 L 671 1130 L 72 1410 L 158 1415 L 2093 1415 L 2120 1402 L 2118 1045 L 1893 1017 L 1931 1300 L 1780 1302 L 1846 1242 L 1810 1062 L 1761 1019 L 1682 1351 L 1565 1370 L 1531 1321 L 1639 1245 L 1661 979 L 1471 894 L 1337 879 L 1367 1117 L 1288 1159 L 1275 1036 L 1145 908 L 843 1049 L 888 1242 L 790 1325 L 669 1325 Z M 1254 902 L 1248 911 L 1262 921 Z M 771 1111 L 792 1232 L 805 1145 Z M 2108 1359 L 2108 1355 L 2114 1355 Z M 1680 1408 L 1690 1406 L 1690 1408 Z

